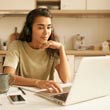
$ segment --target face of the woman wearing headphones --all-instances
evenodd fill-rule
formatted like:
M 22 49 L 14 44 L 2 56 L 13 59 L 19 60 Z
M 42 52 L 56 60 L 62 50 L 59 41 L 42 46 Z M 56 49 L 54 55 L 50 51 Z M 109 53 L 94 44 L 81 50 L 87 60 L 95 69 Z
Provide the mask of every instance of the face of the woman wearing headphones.
M 49 17 L 36 17 L 32 26 L 32 42 L 37 44 L 45 43 L 52 31 L 51 18 Z

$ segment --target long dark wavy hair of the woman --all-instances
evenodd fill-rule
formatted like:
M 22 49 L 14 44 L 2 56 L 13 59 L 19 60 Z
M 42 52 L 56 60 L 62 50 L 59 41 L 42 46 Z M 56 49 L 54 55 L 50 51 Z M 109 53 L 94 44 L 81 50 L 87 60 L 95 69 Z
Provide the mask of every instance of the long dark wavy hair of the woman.
M 36 17 L 44 16 L 52 19 L 52 15 L 47 8 L 36 8 L 30 11 L 26 17 L 26 21 L 24 27 L 19 35 L 19 39 L 21 41 L 31 42 L 32 41 L 32 25 L 36 19 Z M 52 29 L 51 35 L 48 40 L 57 41 L 57 37 L 54 33 L 54 29 Z M 47 48 L 47 53 L 49 55 L 54 55 L 54 53 L 58 54 L 58 50 Z

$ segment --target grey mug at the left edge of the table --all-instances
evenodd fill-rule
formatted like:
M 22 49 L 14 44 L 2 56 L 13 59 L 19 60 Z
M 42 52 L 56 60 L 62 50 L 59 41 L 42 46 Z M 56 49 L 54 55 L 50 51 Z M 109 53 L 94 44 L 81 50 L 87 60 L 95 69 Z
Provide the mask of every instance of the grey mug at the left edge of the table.
M 0 94 L 5 93 L 9 89 L 9 74 L 0 73 Z

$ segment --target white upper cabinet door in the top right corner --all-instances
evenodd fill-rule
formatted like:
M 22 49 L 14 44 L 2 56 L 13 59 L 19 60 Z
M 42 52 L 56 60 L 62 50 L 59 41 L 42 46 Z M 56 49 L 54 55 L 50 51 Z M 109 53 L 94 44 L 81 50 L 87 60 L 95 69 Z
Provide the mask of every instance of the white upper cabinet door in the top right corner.
M 87 0 L 87 10 L 108 10 L 110 0 Z

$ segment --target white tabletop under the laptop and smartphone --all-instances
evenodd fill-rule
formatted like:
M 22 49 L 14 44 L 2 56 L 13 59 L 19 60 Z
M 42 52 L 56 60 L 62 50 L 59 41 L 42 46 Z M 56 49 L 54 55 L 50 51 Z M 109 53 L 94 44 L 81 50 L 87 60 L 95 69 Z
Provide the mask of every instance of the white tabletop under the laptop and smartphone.
M 9 91 L 10 92 L 10 91 Z M 20 92 L 17 89 L 11 88 L 11 93 Z M 23 95 L 27 100 L 25 104 L 13 105 L 7 99 L 6 94 L 0 94 L 0 110 L 110 110 L 110 97 L 103 97 L 79 104 L 73 104 L 68 106 L 61 106 L 38 97 L 35 93 L 26 92 Z

